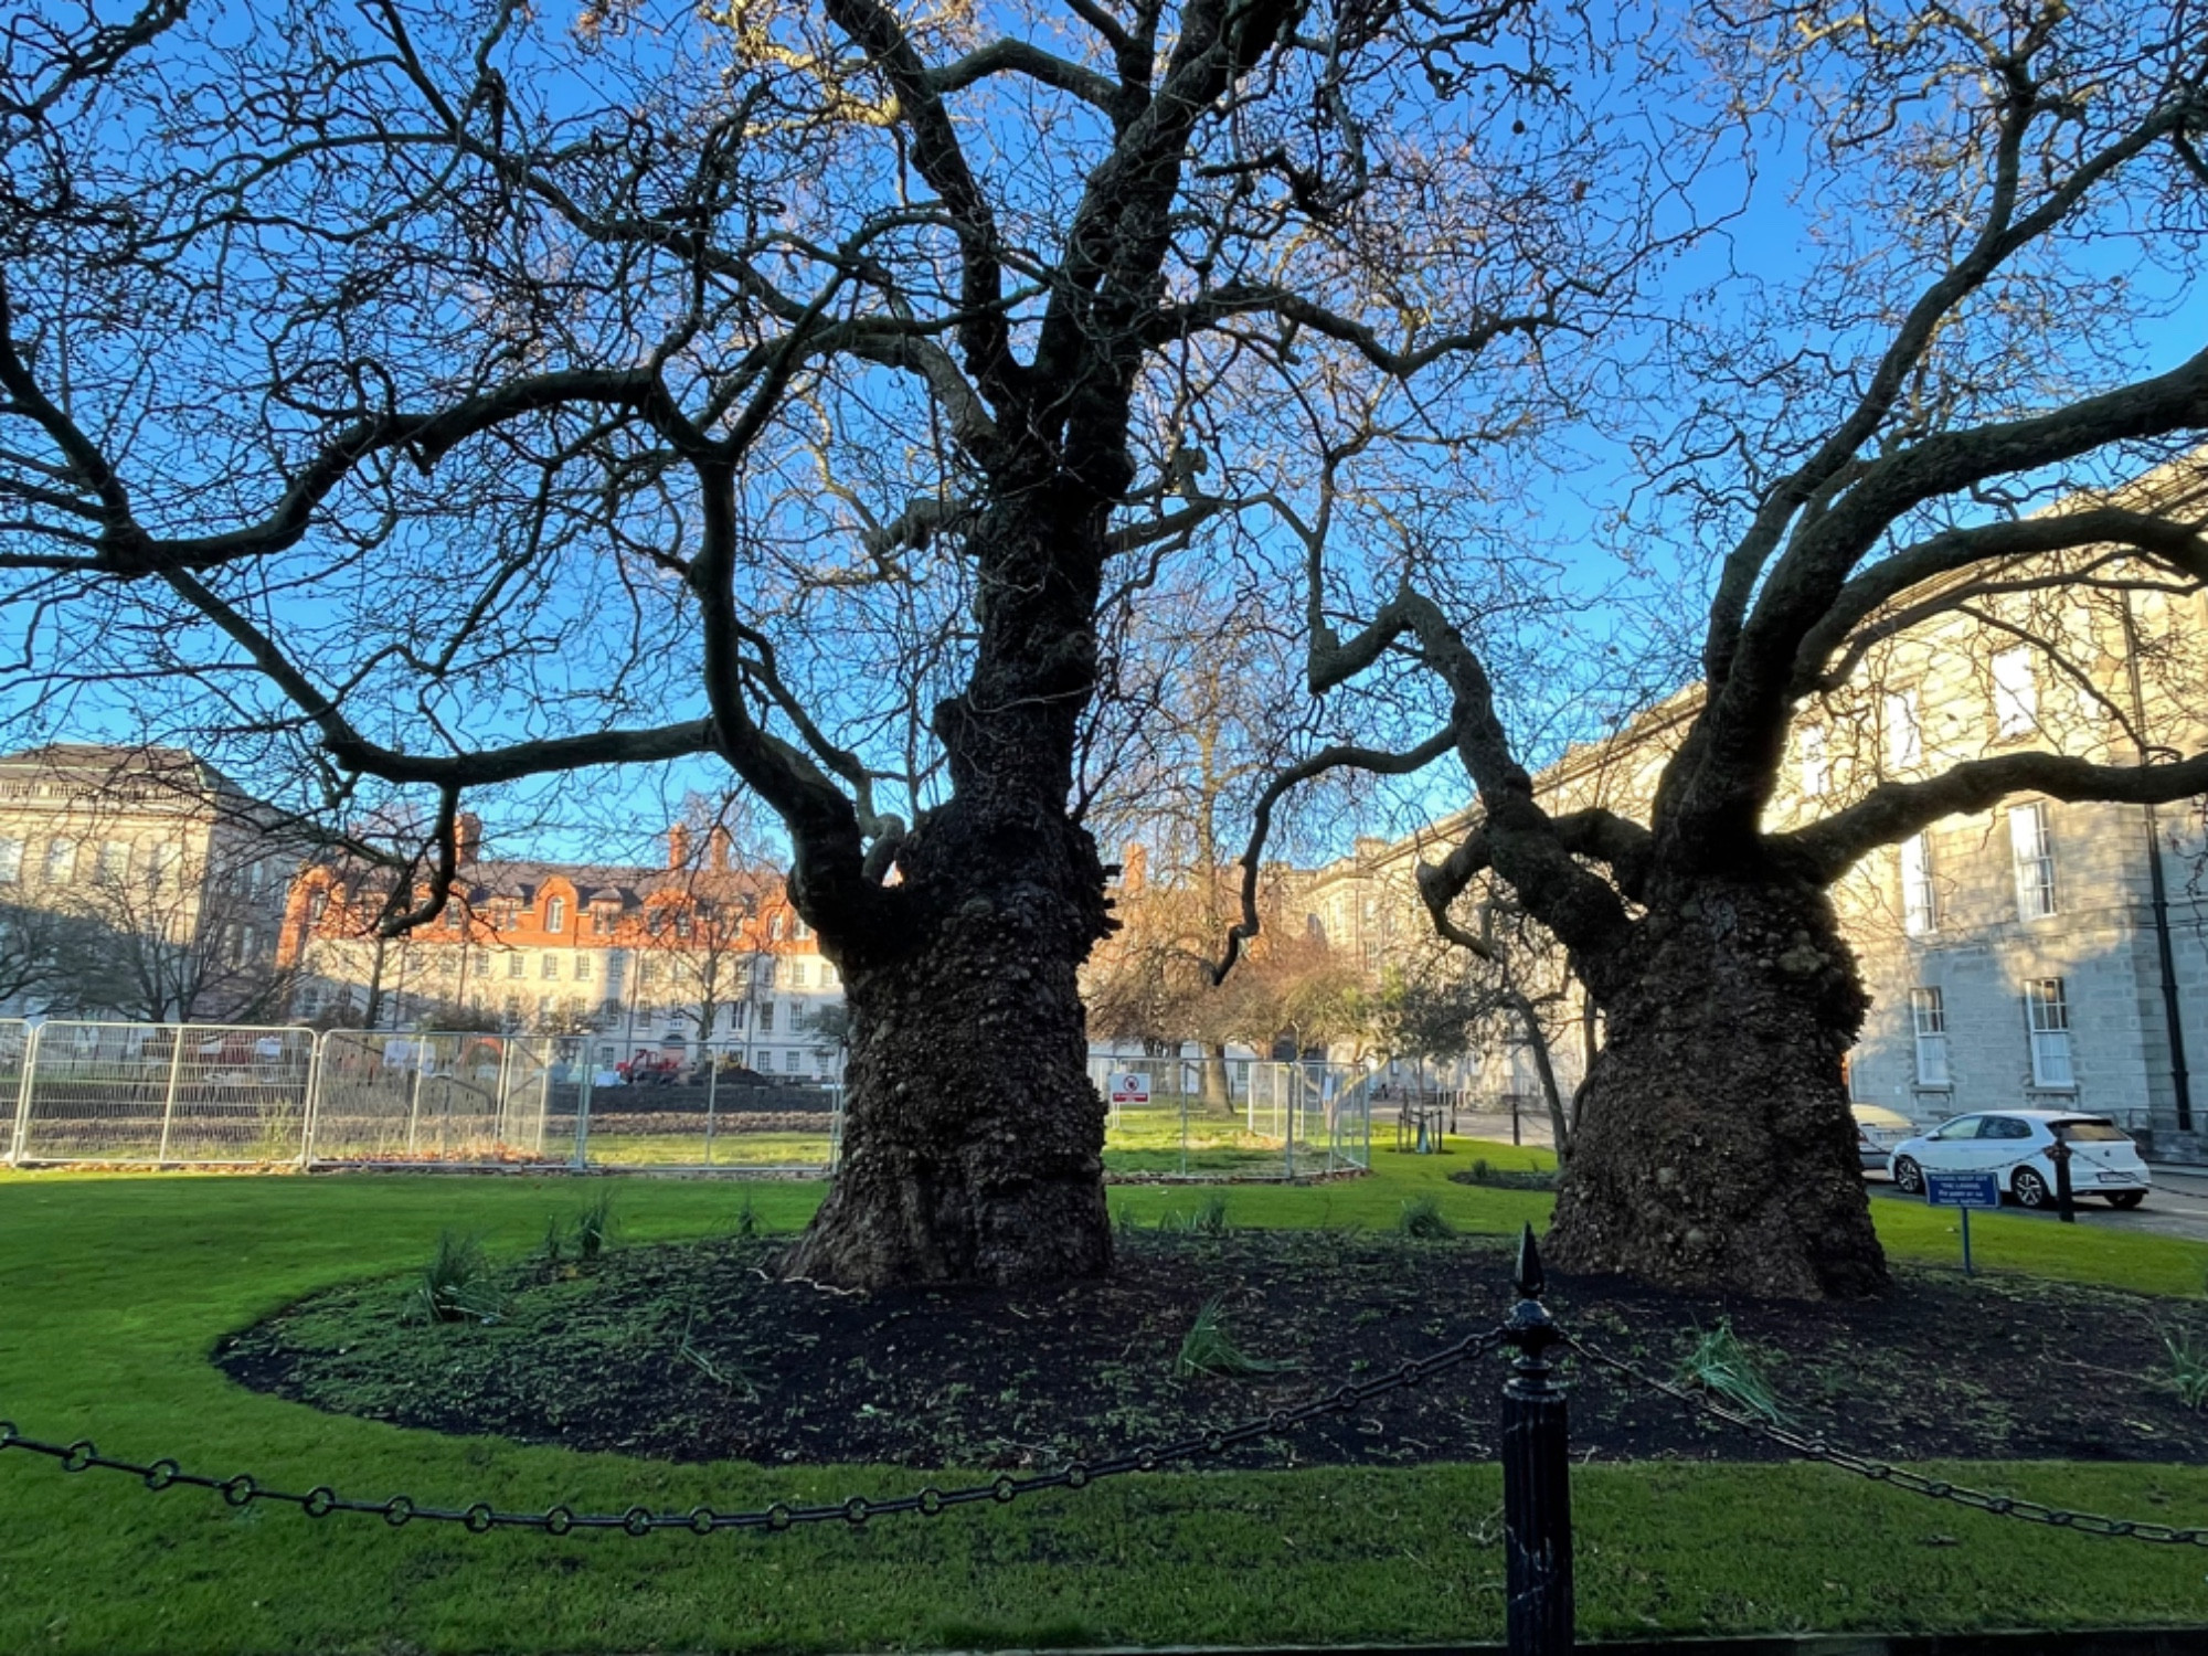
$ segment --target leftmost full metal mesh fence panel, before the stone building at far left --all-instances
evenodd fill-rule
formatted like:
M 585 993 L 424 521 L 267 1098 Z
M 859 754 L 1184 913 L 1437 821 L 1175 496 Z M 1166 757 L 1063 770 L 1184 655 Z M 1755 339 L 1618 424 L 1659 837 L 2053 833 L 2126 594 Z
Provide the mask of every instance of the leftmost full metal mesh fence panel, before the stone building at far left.
M 314 1031 L 53 1018 L 26 1069 L 22 1161 L 294 1161 Z

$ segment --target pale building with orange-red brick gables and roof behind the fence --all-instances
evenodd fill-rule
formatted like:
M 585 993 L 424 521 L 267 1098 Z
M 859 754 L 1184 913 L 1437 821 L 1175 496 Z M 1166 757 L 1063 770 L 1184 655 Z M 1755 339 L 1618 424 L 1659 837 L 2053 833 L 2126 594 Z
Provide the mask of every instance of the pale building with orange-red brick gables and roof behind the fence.
M 481 857 L 461 817 L 453 901 L 378 938 L 389 881 L 325 861 L 285 903 L 280 956 L 309 1022 L 433 1029 L 488 1020 L 585 1040 L 598 1066 L 704 1047 L 775 1075 L 835 1073 L 843 987 L 782 877 L 726 832 L 667 835 L 662 868 Z

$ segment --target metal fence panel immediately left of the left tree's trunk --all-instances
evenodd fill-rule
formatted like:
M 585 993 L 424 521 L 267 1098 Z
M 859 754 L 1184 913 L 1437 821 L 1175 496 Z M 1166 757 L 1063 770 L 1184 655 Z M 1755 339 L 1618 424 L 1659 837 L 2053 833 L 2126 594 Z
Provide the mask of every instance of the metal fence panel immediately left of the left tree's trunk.
M 605 1168 L 826 1172 L 843 1135 L 841 1053 L 821 1078 L 753 1069 L 744 1042 L 645 1049 L 590 1075 L 583 1159 Z

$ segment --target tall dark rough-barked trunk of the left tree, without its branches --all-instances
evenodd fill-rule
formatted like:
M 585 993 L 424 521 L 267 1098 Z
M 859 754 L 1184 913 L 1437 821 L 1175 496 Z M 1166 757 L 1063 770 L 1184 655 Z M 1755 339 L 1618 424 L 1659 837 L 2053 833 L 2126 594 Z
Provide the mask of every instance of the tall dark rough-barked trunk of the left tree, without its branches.
M 797 1276 L 874 1289 L 1111 1270 L 1075 980 L 1111 914 L 1095 841 L 1066 815 L 1104 508 L 1049 499 L 1000 506 L 974 537 L 974 678 L 934 720 L 952 797 L 896 848 L 896 923 L 815 921 L 843 969 L 850 1058 L 843 1157 L 786 1263 Z

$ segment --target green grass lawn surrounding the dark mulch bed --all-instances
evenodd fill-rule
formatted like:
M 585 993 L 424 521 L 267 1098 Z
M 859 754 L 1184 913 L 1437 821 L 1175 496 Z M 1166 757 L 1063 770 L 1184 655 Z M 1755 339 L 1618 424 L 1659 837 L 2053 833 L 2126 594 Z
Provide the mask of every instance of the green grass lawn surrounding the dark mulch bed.
M 1539 1153 L 1479 1146 L 1499 1166 Z M 1433 1195 L 1506 1236 L 1548 1197 L 1446 1181 L 1453 1157 L 1376 1155 L 1376 1177 L 1234 1188 L 1239 1225 L 1393 1225 Z M 329 1283 L 420 1267 L 439 1230 L 521 1254 L 596 1190 L 556 1177 L 0 1175 L 0 1418 L 294 1488 L 424 1504 L 749 1506 L 888 1495 L 896 1468 L 665 1466 L 517 1448 L 320 1415 L 243 1391 L 212 1342 Z M 625 1241 L 773 1228 L 819 1186 L 620 1181 Z M 1119 1188 L 1144 1221 L 1208 1192 Z M 1906 1259 L 1954 1261 L 1945 1217 L 1879 1206 Z M 2208 1248 L 1974 1223 L 1989 1267 L 2199 1294 Z M 1464 1318 L 1504 1298 L 1464 1285 Z M 1345 1307 L 1347 1314 L 1349 1307 Z M 1488 1411 L 1497 1373 L 1457 1376 Z M 2098 1510 L 2208 1524 L 2208 1471 L 1954 1466 Z M 2093 1541 L 1932 1506 L 1813 1466 L 1588 1466 L 1574 1473 L 1588 1636 L 1645 1630 L 1983 1627 L 2208 1621 L 2208 1552 Z M 230 1510 L 0 1455 L 4 1652 L 623 1652 L 1038 1643 L 1451 1641 L 1501 1627 L 1493 1466 L 1159 1475 L 1005 1510 L 786 1537 L 470 1537 L 364 1519 Z

